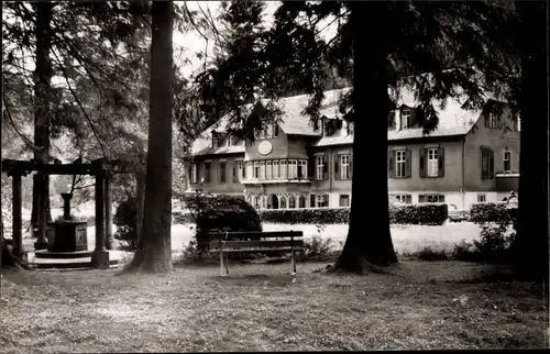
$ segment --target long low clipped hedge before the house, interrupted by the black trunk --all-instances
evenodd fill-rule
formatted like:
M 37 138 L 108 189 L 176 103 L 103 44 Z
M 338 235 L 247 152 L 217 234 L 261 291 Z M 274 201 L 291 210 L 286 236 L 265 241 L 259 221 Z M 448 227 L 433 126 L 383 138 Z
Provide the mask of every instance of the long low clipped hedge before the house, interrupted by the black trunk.
M 260 217 L 266 223 L 339 224 L 350 221 L 350 208 L 268 209 L 261 211 Z M 441 225 L 447 218 L 444 203 L 399 206 L 389 212 L 389 222 L 394 224 Z

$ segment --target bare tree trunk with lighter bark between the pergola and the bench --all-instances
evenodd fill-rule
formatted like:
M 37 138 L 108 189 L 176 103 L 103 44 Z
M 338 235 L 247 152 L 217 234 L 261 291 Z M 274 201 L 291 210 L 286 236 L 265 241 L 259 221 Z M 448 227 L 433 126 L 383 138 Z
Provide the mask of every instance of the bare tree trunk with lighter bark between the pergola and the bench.
M 143 228 L 125 272 L 172 272 L 173 2 L 153 2 L 147 168 Z

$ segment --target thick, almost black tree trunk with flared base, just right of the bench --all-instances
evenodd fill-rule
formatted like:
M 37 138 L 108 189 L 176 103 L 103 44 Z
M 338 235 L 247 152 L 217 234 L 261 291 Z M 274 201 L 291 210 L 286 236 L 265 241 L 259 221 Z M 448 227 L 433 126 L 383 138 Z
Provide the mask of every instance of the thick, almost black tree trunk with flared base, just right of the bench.
M 378 35 L 387 4 L 353 2 L 353 177 L 350 229 L 330 272 L 380 272 L 397 263 L 389 231 L 386 49 Z M 355 35 L 356 34 L 356 35 Z M 369 184 L 366 182 L 369 180 Z

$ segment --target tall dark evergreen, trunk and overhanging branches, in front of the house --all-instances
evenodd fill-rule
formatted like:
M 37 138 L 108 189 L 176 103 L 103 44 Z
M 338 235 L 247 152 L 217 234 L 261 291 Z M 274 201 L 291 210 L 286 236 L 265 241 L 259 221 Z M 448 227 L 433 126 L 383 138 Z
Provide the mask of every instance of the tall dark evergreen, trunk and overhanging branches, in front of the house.
M 331 18 L 340 20 L 340 25 L 336 37 L 327 42 L 318 35 L 319 25 Z M 333 270 L 365 273 L 397 261 L 387 217 L 387 128 L 383 129 L 381 122 L 386 124 L 399 88 L 405 86 L 415 92 L 425 113 L 420 122 L 425 132 L 438 124 L 435 104 L 444 103 L 448 98 L 462 100 L 466 108 L 480 108 L 485 102 L 486 90 L 502 93 L 499 84 L 515 85 L 510 78 L 517 77 L 517 63 L 504 54 L 513 52 L 513 43 L 505 35 L 513 29 L 513 20 L 507 11 L 483 1 L 284 2 L 278 8 L 266 45 L 256 57 L 257 65 L 264 69 L 250 70 L 245 88 L 233 86 L 232 96 L 255 86 L 262 88 L 258 92 L 268 93 L 264 97 L 275 100 L 279 95 L 266 82 L 275 82 L 276 74 L 284 77 L 280 68 L 299 63 L 310 93 L 305 113 L 317 124 L 323 99 L 321 64 L 328 63 L 338 68 L 340 76 L 353 80 L 353 90 L 340 106 L 341 112 L 355 124 L 352 180 L 355 202 L 351 204 L 346 244 Z M 384 34 L 383 38 L 378 37 L 380 33 Z M 222 63 L 231 59 L 230 56 Z M 218 64 L 211 73 L 224 70 L 227 68 Z M 234 75 L 232 79 L 239 84 L 242 74 L 224 75 Z M 205 101 L 211 98 L 209 92 L 220 92 L 222 82 L 213 80 L 213 85 L 204 85 L 218 88 L 205 90 Z M 231 103 L 234 102 L 223 108 L 240 109 Z M 234 122 L 242 119 L 233 115 Z M 362 184 L 358 182 L 362 180 L 358 166 L 366 165 L 378 172 L 376 188 L 358 186 Z M 360 213 L 364 206 L 358 204 L 359 200 L 369 200 L 373 206 L 366 218 Z

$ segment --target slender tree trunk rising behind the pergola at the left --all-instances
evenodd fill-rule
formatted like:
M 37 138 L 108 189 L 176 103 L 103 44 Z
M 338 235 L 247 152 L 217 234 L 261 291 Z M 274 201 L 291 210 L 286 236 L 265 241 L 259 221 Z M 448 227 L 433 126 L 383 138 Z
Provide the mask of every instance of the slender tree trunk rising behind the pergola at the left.
M 34 79 L 34 158 L 43 164 L 50 159 L 50 88 L 52 82 L 52 60 L 50 52 L 51 22 L 53 3 L 40 1 L 33 4 L 36 9 L 36 69 Z M 42 198 L 38 198 L 41 196 Z M 38 201 L 41 206 L 38 206 Z M 33 230 L 37 226 L 37 209 L 44 208 L 46 220 L 52 220 L 50 212 L 50 177 L 33 179 L 33 211 L 31 224 Z M 36 235 L 34 235 L 36 236 Z

